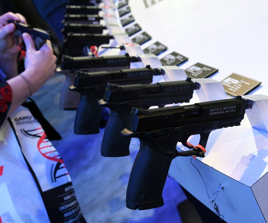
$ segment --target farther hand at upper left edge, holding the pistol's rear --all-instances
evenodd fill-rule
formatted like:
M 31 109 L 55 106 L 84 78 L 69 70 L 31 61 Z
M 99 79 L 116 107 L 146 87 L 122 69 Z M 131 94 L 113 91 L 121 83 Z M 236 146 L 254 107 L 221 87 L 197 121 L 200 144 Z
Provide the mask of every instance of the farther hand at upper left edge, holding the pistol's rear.
M 26 20 L 19 13 L 7 12 L 0 16 L 0 58 L 12 59 L 19 50 L 15 39 L 10 35 L 15 31 L 15 24 L 8 23 L 8 20 L 20 21 L 24 24 L 26 24 Z

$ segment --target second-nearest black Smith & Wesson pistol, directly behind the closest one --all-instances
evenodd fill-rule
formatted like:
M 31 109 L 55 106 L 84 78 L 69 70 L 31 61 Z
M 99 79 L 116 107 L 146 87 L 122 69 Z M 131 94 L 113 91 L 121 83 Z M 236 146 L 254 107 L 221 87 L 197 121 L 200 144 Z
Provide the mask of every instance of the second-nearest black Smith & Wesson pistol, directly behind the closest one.
M 120 133 L 128 125 L 132 107 L 149 109 L 167 104 L 189 102 L 196 85 L 186 81 L 169 81 L 156 84 L 116 85 L 107 84 L 99 105 L 110 108 L 110 118 L 102 138 L 102 156 L 118 157 L 129 155 L 131 138 Z

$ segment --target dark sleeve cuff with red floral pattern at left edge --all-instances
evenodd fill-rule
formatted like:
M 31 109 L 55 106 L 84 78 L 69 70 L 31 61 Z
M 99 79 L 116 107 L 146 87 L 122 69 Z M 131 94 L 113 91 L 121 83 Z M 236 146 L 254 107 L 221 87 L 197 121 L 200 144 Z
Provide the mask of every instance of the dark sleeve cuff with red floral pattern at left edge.
M 6 119 L 12 100 L 11 87 L 7 82 L 0 83 L 0 127 Z

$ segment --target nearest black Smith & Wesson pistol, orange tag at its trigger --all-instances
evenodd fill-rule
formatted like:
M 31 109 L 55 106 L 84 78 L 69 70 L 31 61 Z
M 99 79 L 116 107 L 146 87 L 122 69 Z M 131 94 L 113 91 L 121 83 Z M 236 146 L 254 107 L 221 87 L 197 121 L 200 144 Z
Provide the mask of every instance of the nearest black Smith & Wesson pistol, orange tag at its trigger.
M 162 191 L 171 161 L 177 156 L 205 157 L 211 131 L 240 125 L 245 110 L 251 108 L 241 96 L 236 98 L 155 109 L 133 108 L 123 136 L 140 139 L 140 149 L 128 181 L 127 208 L 145 210 L 164 205 Z M 187 139 L 200 134 L 199 145 Z M 179 152 L 177 142 L 192 150 Z

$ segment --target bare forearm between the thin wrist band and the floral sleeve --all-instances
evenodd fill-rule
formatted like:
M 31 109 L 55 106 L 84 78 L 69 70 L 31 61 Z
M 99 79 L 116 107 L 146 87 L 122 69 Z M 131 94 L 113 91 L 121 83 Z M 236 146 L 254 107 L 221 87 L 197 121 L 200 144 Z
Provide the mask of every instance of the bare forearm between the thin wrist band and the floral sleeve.
M 12 102 L 7 117 L 16 110 L 31 94 L 28 84 L 20 76 L 6 81 L 12 90 Z

